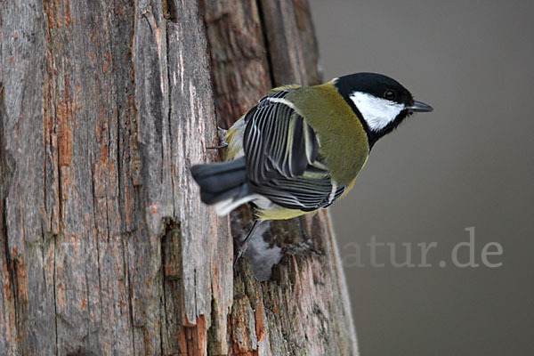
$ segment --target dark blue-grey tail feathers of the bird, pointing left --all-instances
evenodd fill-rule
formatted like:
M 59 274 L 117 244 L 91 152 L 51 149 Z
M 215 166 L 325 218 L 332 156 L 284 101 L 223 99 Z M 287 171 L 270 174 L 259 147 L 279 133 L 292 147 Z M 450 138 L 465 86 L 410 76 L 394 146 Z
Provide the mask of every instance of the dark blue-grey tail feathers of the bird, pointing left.
M 237 200 L 250 193 L 245 158 L 192 166 L 191 174 L 200 186 L 200 199 L 207 205 L 229 198 Z

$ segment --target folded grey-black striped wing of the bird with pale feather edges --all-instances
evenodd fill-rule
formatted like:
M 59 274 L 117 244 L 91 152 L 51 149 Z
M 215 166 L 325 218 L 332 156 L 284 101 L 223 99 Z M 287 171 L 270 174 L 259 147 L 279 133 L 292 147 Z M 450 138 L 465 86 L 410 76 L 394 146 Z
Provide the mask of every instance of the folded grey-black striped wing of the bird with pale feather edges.
M 292 104 L 273 93 L 245 117 L 243 147 L 252 190 L 279 206 L 312 211 L 326 207 L 346 187 L 336 187 L 320 161 L 320 142 Z

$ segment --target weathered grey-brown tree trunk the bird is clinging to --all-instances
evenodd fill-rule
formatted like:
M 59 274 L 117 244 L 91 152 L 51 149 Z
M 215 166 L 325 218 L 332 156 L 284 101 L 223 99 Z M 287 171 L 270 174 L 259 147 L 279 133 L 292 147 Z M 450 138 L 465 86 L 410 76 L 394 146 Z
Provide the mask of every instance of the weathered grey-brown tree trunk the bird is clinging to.
M 320 81 L 307 1 L 20 3 L 0 12 L 0 354 L 357 353 L 328 214 L 267 223 L 284 256 L 260 282 L 189 174 L 220 159 L 217 120 Z

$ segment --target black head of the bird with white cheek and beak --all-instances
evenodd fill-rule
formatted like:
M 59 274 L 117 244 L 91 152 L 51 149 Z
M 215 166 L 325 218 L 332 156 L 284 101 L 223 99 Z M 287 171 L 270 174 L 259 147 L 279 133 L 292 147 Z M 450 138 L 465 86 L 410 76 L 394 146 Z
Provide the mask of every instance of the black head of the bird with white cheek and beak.
M 369 147 L 412 113 L 433 110 L 423 102 L 414 101 L 399 82 L 381 74 L 355 73 L 334 79 L 334 85 L 360 118 L 368 134 Z

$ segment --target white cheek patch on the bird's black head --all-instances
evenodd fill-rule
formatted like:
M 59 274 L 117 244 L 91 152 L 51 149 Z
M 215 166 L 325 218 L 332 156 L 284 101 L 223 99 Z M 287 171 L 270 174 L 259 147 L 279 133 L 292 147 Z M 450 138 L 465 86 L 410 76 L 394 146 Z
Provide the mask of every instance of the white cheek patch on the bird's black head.
M 369 93 L 354 92 L 350 98 L 373 131 L 382 130 L 404 109 L 404 104 L 376 98 Z

